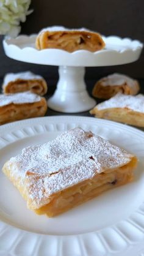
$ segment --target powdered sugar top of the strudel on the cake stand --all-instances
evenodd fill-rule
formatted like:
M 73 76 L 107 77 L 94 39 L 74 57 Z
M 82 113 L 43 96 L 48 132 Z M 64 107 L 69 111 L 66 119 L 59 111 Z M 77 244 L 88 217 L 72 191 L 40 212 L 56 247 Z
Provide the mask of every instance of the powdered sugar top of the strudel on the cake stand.
M 45 31 L 88 31 L 88 32 L 93 32 L 87 28 L 77 28 L 76 29 L 76 28 L 65 28 L 63 26 L 51 26 L 48 28 L 41 29 L 41 31 L 38 34 L 41 34 L 42 32 L 45 32 Z

